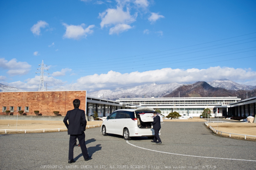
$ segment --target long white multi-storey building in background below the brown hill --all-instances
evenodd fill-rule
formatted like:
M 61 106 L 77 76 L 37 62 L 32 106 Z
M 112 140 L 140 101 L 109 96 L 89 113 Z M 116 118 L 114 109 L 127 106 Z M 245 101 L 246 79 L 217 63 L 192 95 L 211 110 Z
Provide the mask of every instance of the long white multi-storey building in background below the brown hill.
M 205 108 L 210 108 L 211 116 L 223 116 L 227 114 L 228 104 L 239 102 L 237 97 L 192 97 L 192 98 L 120 98 L 116 101 L 135 104 L 143 107 L 152 107 L 161 110 L 163 115 L 172 111 L 179 114 L 189 114 L 199 117 Z

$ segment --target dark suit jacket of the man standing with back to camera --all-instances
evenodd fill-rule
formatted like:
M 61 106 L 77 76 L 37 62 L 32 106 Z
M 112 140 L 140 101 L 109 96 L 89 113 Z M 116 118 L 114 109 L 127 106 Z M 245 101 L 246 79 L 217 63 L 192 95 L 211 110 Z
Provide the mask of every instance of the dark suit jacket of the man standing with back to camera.
M 68 120 L 68 122 L 67 122 Z M 86 127 L 86 119 L 84 110 L 80 110 L 79 108 L 74 108 L 73 110 L 69 110 L 63 120 L 65 123 L 68 134 L 69 135 L 80 135 L 83 134 Z

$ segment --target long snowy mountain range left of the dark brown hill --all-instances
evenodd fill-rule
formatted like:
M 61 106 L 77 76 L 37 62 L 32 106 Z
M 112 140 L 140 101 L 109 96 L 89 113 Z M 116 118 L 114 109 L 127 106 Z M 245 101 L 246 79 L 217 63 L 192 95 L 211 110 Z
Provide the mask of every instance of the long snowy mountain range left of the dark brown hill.
M 131 87 L 118 87 L 113 90 L 99 90 L 88 94 L 88 96 L 104 99 L 119 99 L 119 98 L 146 98 L 149 97 L 161 97 L 169 94 L 176 88 L 182 86 L 178 83 L 169 84 L 143 84 L 140 86 Z M 145 95 L 146 94 L 146 95 Z

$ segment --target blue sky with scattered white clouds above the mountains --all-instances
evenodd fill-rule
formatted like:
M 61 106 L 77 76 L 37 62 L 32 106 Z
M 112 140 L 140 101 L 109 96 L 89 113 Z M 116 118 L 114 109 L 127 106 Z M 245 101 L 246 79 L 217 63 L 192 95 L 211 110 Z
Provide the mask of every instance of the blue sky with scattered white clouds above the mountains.
M 0 83 L 9 86 L 37 90 L 42 60 L 48 89 L 256 85 L 254 0 L 3 0 L 0 15 Z

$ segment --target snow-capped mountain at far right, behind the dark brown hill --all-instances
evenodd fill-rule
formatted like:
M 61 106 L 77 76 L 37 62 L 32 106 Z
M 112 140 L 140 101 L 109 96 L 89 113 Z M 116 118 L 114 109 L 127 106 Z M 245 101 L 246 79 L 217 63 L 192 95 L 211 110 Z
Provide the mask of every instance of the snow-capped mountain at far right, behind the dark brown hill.
M 222 87 L 227 90 L 253 90 L 255 86 L 246 86 L 244 84 L 238 84 L 228 79 L 220 79 L 220 80 L 213 80 L 211 82 L 207 82 L 212 87 Z

